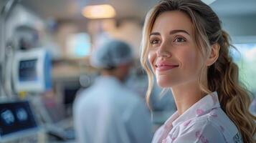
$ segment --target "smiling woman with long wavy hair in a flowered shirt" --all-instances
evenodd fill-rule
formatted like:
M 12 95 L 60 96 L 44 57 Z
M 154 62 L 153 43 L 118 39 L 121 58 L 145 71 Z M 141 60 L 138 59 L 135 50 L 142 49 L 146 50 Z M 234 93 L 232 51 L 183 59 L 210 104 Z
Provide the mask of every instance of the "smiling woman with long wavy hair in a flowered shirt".
M 153 143 L 255 142 L 250 94 L 239 83 L 220 23 L 199 0 L 163 0 L 148 12 L 141 42 L 147 100 L 155 76 L 171 89 L 177 107 Z

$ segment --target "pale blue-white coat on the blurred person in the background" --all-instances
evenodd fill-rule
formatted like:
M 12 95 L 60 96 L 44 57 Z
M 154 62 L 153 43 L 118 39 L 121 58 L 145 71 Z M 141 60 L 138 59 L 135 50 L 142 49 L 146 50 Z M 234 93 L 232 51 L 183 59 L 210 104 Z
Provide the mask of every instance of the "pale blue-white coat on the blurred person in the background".
M 78 95 L 73 110 L 80 143 L 151 142 L 145 102 L 114 77 L 99 77 Z

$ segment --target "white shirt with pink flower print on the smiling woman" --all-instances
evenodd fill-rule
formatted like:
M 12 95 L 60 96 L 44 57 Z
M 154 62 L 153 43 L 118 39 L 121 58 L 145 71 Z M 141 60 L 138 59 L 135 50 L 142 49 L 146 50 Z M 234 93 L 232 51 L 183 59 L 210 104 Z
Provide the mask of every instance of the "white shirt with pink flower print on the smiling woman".
M 241 143 L 234 123 L 219 105 L 217 92 L 179 116 L 175 112 L 155 133 L 152 143 Z

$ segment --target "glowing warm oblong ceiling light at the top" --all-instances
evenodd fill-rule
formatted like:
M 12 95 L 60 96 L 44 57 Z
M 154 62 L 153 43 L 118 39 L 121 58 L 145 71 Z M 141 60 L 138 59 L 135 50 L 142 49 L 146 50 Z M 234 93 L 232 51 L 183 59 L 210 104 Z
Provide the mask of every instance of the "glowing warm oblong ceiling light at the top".
M 115 17 L 115 9 L 109 4 L 85 6 L 82 15 L 87 19 L 106 19 Z

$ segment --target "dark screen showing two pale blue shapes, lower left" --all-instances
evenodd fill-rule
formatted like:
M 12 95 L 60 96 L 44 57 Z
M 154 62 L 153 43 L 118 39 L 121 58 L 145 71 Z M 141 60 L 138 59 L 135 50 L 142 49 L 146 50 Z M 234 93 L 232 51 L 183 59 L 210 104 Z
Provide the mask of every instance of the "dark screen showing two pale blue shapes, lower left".
M 35 127 L 29 102 L 0 103 L 0 137 Z

